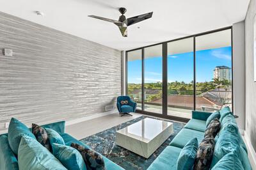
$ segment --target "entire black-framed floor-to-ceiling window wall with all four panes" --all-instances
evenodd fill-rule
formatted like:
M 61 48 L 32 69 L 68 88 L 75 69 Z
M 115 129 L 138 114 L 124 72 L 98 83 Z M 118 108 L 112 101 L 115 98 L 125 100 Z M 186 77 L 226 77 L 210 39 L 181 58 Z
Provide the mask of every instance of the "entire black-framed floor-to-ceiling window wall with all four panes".
M 232 28 L 127 51 L 127 95 L 145 113 L 232 107 Z

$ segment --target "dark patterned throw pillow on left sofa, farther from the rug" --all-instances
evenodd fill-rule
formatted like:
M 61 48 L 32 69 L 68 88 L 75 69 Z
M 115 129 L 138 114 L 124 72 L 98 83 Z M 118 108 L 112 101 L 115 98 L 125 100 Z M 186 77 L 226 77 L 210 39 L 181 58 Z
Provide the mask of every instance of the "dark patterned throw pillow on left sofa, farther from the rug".
M 35 135 L 36 140 L 42 144 L 47 150 L 50 150 L 49 136 L 46 130 L 35 123 L 32 123 L 32 133 Z

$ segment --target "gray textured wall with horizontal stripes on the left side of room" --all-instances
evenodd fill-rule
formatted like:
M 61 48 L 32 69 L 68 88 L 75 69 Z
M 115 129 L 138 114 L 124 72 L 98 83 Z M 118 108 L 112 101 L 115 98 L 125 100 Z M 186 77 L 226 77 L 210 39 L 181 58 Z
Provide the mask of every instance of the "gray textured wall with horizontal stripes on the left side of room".
M 12 57 L 3 49 L 12 49 Z M 121 93 L 121 51 L 0 12 L 0 132 L 104 111 Z

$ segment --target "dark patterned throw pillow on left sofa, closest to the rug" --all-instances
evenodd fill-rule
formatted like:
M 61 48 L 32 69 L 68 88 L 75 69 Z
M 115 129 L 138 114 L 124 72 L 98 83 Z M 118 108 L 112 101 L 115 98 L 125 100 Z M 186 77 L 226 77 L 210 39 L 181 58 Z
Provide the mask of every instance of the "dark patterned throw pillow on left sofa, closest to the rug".
M 77 143 L 72 143 L 71 147 L 75 148 L 81 153 L 87 169 L 106 170 L 104 160 L 99 153 L 88 148 L 84 148 L 84 146 Z

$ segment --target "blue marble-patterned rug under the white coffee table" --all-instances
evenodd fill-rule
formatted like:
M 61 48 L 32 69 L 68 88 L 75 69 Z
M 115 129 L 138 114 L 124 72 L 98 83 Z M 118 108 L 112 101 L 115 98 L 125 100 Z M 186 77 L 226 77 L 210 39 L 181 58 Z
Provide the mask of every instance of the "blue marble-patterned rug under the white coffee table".
M 152 164 L 152 162 L 164 150 L 164 148 L 166 148 L 166 146 L 170 144 L 173 137 L 175 137 L 175 135 L 180 132 L 180 130 L 184 127 L 185 123 L 170 121 L 173 123 L 173 135 L 171 135 L 149 158 L 143 158 L 136 153 L 133 153 L 129 150 L 126 150 L 125 148 L 116 145 L 115 132 L 117 130 L 120 130 L 121 128 L 131 125 L 132 123 L 143 120 L 144 118 L 147 118 L 147 116 L 140 116 L 139 118 L 127 121 L 125 123 L 117 125 L 116 127 L 109 128 L 94 135 L 90 135 L 84 139 L 81 139 L 80 141 L 88 144 L 93 148 L 93 150 L 101 153 L 119 166 L 124 167 L 124 169 L 147 169 L 147 167 Z

